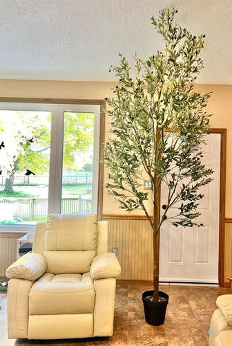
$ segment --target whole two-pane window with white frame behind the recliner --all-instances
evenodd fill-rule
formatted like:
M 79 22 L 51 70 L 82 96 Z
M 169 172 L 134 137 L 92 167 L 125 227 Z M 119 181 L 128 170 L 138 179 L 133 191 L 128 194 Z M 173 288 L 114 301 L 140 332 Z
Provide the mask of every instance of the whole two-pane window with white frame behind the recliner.
M 0 107 L 0 227 L 97 213 L 99 106 Z

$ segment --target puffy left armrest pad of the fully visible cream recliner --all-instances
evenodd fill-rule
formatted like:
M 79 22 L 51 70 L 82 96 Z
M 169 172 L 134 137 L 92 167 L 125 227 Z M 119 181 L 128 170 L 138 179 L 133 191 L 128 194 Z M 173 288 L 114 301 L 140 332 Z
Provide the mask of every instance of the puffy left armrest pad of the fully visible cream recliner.
M 40 253 L 27 253 L 6 269 L 8 279 L 35 281 L 46 272 L 46 258 Z

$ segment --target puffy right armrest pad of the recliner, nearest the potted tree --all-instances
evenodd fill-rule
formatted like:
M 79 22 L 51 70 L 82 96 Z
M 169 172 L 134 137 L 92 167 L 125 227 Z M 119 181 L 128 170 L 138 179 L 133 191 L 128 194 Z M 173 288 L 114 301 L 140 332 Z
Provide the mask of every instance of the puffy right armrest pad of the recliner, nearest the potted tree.
M 114 253 L 97 255 L 90 266 L 90 276 L 93 280 L 118 277 L 120 274 L 121 266 Z

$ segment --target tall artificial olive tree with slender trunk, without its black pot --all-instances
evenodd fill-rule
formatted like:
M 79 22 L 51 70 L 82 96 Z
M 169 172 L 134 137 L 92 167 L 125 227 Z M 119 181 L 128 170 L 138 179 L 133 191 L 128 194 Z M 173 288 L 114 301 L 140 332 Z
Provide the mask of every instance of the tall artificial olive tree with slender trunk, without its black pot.
M 127 212 L 140 208 L 151 224 L 154 302 L 159 291 L 160 226 L 164 220 L 174 226 L 199 226 L 197 201 L 204 197 L 199 189 L 212 180 L 212 170 L 201 163 L 210 116 L 204 107 L 210 93 L 202 95 L 194 90 L 196 75 L 203 67 L 200 52 L 204 35 L 196 37 L 177 26 L 176 12 L 162 10 L 158 19 L 151 18 L 164 39 L 163 51 L 147 60 L 135 54 L 134 69 L 119 54 L 119 65 L 110 68 L 119 82 L 113 88 L 113 97 L 106 98 L 112 133 L 104 152 L 110 181 L 106 188 L 119 208 Z M 152 194 L 144 190 L 146 180 Z M 168 192 L 160 217 L 161 183 L 166 184 Z M 151 200 L 153 215 L 147 208 Z

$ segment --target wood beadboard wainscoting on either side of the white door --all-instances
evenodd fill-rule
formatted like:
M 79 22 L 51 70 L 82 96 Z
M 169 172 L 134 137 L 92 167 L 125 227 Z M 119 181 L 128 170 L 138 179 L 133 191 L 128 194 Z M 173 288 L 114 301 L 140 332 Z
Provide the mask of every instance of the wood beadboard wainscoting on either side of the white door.
M 153 280 L 152 233 L 144 217 L 104 215 L 109 222 L 109 250 L 117 247 L 117 257 L 122 266 L 119 280 Z M 232 219 L 225 219 L 224 235 L 224 282 L 232 275 Z

